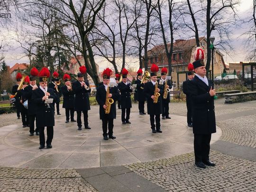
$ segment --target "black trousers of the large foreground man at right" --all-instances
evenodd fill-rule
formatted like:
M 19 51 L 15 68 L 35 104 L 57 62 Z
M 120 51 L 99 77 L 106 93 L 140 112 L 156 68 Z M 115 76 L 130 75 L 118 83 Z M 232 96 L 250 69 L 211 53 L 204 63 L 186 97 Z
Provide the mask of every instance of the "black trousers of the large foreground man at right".
M 211 134 L 194 134 L 195 161 L 209 160 Z

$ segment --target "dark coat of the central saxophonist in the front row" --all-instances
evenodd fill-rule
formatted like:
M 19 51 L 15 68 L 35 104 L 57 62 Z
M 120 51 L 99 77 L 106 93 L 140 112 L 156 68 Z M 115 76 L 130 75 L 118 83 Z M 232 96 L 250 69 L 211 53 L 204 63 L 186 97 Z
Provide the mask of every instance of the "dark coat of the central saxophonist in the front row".
M 116 87 L 116 86 L 110 87 L 110 93 L 112 93 L 111 98 L 114 100 L 114 103 L 111 104 L 110 113 L 108 114 L 108 118 L 116 118 L 116 114 L 117 114 L 116 100 L 119 100 L 119 98 L 120 98 L 118 87 Z M 103 105 L 105 105 L 105 103 L 106 103 L 106 94 L 107 94 L 107 91 L 106 91 L 104 85 L 101 85 L 100 87 L 97 88 L 96 100 L 100 105 L 100 119 L 104 119 L 106 117 L 105 109 L 103 108 Z

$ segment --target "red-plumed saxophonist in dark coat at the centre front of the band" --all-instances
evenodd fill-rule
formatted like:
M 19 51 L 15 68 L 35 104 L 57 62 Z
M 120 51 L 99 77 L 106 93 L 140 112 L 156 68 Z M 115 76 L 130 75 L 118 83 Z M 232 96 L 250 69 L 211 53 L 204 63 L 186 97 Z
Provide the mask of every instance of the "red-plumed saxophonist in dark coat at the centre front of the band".
M 103 138 L 104 140 L 108 140 L 108 135 L 110 139 L 116 139 L 113 135 L 113 127 L 114 127 L 114 119 L 116 118 L 116 100 L 119 99 L 120 94 L 117 86 L 109 88 L 109 94 L 107 95 L 108 86 L 110 83 L 110 75 L 112 70 L 106 68 L 103 71 L 103 85 L 98 87 L 96 92 L 96 100 L 100 105 L 100 119 L 102 121 L 102 130 L 103 130 Z M 106 97 L 112 98 L 114 102 L 110 106 L 110 113 L 106 114 L 105 109 L 107 108 L 106 104 Z M 109 104 L 110 105 L 110 104 Z M 108 131 L 108 124 L 109 124 L 109 133 Z

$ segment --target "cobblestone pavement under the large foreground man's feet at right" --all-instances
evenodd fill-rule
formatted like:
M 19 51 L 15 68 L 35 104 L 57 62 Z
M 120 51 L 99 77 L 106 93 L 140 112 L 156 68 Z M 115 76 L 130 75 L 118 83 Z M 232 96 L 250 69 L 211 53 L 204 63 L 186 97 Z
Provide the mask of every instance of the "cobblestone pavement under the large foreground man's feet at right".
M 171 192 L 256 191 L 256 163 L 211 151 L 216 167 L 201 169 L 193 164 L 193 153 L 170 159 L 136 163 L 126 167 Z

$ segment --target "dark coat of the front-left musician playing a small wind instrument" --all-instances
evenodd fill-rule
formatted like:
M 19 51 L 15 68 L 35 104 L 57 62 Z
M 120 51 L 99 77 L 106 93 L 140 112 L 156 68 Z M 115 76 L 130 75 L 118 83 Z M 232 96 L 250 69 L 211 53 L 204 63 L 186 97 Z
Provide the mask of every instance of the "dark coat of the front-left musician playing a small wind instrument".
M 54 90 L 48 87 L 47 92 L 50 93 L 49 99 L 52 98 L 55 101 L 56 95 L 54 93 Z M 37 127 L 55 125 L 53 103 L 50 103 L 50 108 L 48 108 L 47 104 L 45 104 L 45 101 L 42 100 L 44 96 L 45 92 L 43 92 L 40 87 L 32 92 L 32 102 L 35 102 L 37 108 Z

